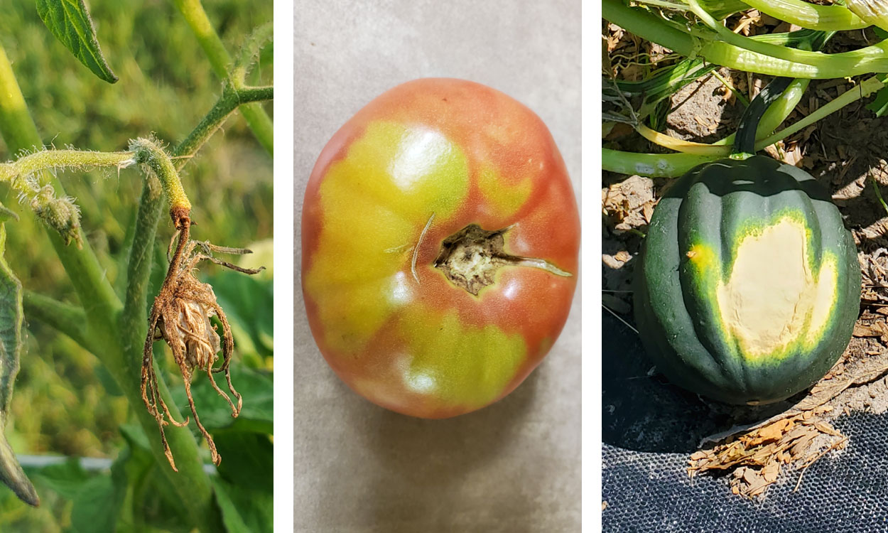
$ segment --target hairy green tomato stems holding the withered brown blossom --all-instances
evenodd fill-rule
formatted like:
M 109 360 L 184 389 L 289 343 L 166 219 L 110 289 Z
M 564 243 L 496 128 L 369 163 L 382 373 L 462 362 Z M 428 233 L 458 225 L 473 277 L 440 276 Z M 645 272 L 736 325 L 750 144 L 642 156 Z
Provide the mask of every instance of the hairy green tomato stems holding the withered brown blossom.
M 194 2 L 183 4 L 200 6 L 199 3 Z M 124 304 L 121 304 L 111 289 L 110 283 L 104 277 L 104 273 L 98 268 L 98 260 L 90 250 L 89 243 L 86 243 L 83 251 L 75 251 L 65 247 L 61 243 L 59 235 L 52 232 L 49 235 L 53 246 L 71 275 L 84 309 L 79 310 L 37 294 L 29 294 L 26 301 L 29 312 L 36 318 L 66 333 L 93 354 L 99 356 L 101 362 L 115 376 L 115 380 L 136 411 L 140 424 L 145 427 L 148 434 L 152 434 L 156 430 L 156 421 L 147 413 L 147 410 L 139 409 L 141 407 L 139 362 L 141 347 L 146 335 L 147 284 L 151 271 L 151 253 L 154 249 L 156 228 L 163 205 L 160 194 L 162 187 L 158 186 L 158 179 L 171 207 L 190 208 L 190 203 L 188 203 L 185 191 L 178 179 L 178 169 L 186 164 L 188 157 L 194 155 L 215 131 L 218 131 L 234 110 L 245 103 L 274 97 L 272 87 L 250 87 L 243 84 L 243 78 L 249 68 L 249 61 L 258 53 L 260 43 L 270 36 L 270 31 L 270 26 L 263 27 L 254 34 L 248 43 L 247 50 L 242 52 L 238 64 L 235 66 L 234 80 L 226 82 L 222 96 L 210 113 L 173 150 L 172 155 L 178 157 L 175 163 L 153 140 L 136 139 L 131 141 L 131 151 L 128 152 L 98 153 L 47 150 L 25 155 L 14 163 L 0 164 L 0 179 L 12 179 L 19 175 L 28 176 L 40 173 L 43 179 L 52 183 L 52 187 L 62 194 L 64 189 L 58 179 L 45 170 L 92 166 L 123 168 L 131 163 L 141 163 L 150 170 L 143 187 L 131 244 Z M 218 50 L 224 52 L 224 48 Z M 225 63 L 227 62 L 226 60 Z M 0 132 L 3 133 L 7 144 L 13 150 L 17 147 L 42 147 L 43 143 L 36 132 L 36 126 L 28 113 L 28 108 L 21 96 L 18 84 L 15 82 L 12 68 L 5 58 L 2 47 L 0 47 L 0 91 L 3 91 L 0 92 L 0 96 L 4 97 L 0 98 Z M 270 121 L 267 126 L 267 139 L 270 142 Z M 261 141 L 261 128 L 254 128 L 254 131 L 258 132 Z M 116 327 L 109 327 L 108 324 L 116 324 Z M 77 327 L 78 325 L 79 327 Z M 173 416 L 181 418 L 178 416 L 178 409 L 170 399 L 169 390 L 163 379 L 159 378 L 158 387 L 165 402 L 173 411 Z M 163 455 L 163 448 L 156 439 L 152 440 L 152 450 L 158 463 L 163 465 L 161 468 L 170 479 L 171 486 L 176 489 L 178 497 L 183 501 L 191 502 L 187 508 L 194 525 L 203 531 L 221 530 L 222 525 L 219 522 L 218 513 L 212 504 L 212 489 L 202 470 L 202 461 L 194 436 L 187 428 L 170 427 L 167 430 L 167 440 L 174 455 L 180 457 L 179 473 L 172 473 L 170 468 L 166 466 L 168 463 Z

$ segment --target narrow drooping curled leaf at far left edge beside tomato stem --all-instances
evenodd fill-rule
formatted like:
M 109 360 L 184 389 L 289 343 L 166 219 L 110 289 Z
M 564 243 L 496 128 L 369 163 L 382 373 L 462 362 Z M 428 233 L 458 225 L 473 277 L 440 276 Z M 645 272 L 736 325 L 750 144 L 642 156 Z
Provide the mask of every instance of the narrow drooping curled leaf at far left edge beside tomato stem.
M 3 211 L 3 210 L 0 210 Z M 21 282 L 6 264 L 4 251 L 6 248 L 6 229 L 0 224 L 0 480 L 2 480 L 16 496 L 30 505 L 38 505 L 34 485 L 21 470 L 12 446 L 6 441 L 3 428 L 12 401 L 12 383 L 19 373 L 19 354 L 21 351 L 22 303 Z

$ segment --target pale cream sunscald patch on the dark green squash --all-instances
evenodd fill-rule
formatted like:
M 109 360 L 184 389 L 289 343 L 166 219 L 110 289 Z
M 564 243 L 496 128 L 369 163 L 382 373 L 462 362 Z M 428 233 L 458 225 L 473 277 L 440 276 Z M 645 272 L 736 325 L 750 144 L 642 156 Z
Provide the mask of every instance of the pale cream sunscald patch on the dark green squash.
M 800 339 L 812 343 L 826 328 L 836 298 L 836 259 L 825 253 L 814 273 L 809 253 L 805 226 L 791 217 L 737 246 L 716 297 L 722 324 L 743 356 L 779 354 Z

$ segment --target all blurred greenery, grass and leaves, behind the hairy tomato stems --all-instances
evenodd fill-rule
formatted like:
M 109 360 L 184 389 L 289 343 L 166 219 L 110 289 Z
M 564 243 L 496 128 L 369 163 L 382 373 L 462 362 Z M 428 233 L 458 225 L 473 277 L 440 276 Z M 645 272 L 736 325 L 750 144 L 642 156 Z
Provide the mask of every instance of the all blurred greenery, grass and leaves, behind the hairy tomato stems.
M 170 3 L 91 0 L 102 44 L 114 58 L 120 76 L 115 85 L 84 76 L 83 68 L 71 58 L 74 52 L 83 61 L 83 42 L 77 44 L 81 46 L 78 52 L 59 36 L 61 31 L 69 38 L 78 34 L 78 38 L 89 40 L 81 31 L 83 20 L 89 21 L 83 2 L 44 0 L 38 4 L 42 4 L 41 18 L 52 34 L 41 23 L 34 4 L 4 5 L 0 50 L 5 48 L 12 61 L 28 111 L 46 145 L 110 152 L 125 149 L 128 139 L 154 132 L 174 146 L 210 111 L 222 92 L 210 61 Z M 68 18 L 60 19 L 58 13 L 48 18 L 50 4 L 56 8 L 64 4 Z M 82 13 L 70 11 L 78 5 Z M 227 0 L 206 7 L 213 28 L 230 51 L 238 50 L 253 28 L 272 19 L 271 2 Z M 77 20 L 81 14 L 86 18 Z M 74 28 L 75 24 L 81 28 Z M 94 39 L 91 23 L 89 29 Z M 71 51 L 55 44 L 52 35 Z M 271 63 L 268 46 L 248 82 L 270 84 Z M 181 173 L 194 203 L 194 238 L 226 244 L 270 239 L 272 162 L 242 120 L 231 118 L 225 128 L 224 135 L 210 139 Z M 10 146 L 18 148 L 0 140 L 0 162 L 15 158 Z M 84 242 L 95 252 L 101 273 L 117 297 L 123 299 L 142 176 L 134 170 L 76 170 L 59 178 L 81 211 Z M 15 191 L 0 186 L 0 200 L 22 213 L 20 221 L 6 225 L 7 248 L 14 251 L 6 256 L 12 271 L 26 289 L 76 304 L 70 273 L 59 264 L 50 240 L 27 212 L 28 203 L 18 203 L 16 198 Z M 163 279 L 171 233 L 168 219 L 162 219 L 151 256 L 149 295 L 155 294 Z M 195 399 L 205 405 L 202 420 L 210 432 L 219 432 L 223 451 L 223 463 L 212 475 L 212 486 L 218 488 L 216 513 L 233 528 L 243 525 L 250 531 L 271 530 L 271 474 L 259 480 L 266 484 L 241 485 L 245 474 L 259 468 L 270 472 L 271 466 L 271 281 L 230 276 L 226 274 L 234 273 L 213 267 L 207 272 L 212 274 L 207 279 L 232 322 L 233 379 L 244 395 L 241 418 L 234 420 L 208 382 L 201 377 L 194 380 Z M 135 415 L 144 406 L 123 395 L 112 377 L 119 376 L 119 371 L 109 371 L 114 369 L 99 364 L 94 354 L 56 333 L 47 322 L 28 314 L 25 320 L 29 335 L 23 342 L 28 362 L 16 380 L 6 428 L 12 447 L 19 454 L 107 457 L 114 458 L 114 463 L 99 471 L 84 469 L 74 460 L 41 468 L 26 466 L 42 506 L 28 508 L 0 487 L 0 530 L 194 530 L 189 525 L 195 516 L 187 507 L 190 503 L 176 496 L 178 488 L 170 482 L 169 466 L 156 461 L 152 446 L 157 434 L 145 434 L 136 422 Z M 161 346 L 155 351 L 163 374 L 178 374 L 169 351 Z M 135 364 L 138 367 L 139 362 Z M 170 380 L 170 389 L 177 400 L 184 398 L 180 378 Z M 187 410 L 186 403 L 179 401 L 178 408 Z

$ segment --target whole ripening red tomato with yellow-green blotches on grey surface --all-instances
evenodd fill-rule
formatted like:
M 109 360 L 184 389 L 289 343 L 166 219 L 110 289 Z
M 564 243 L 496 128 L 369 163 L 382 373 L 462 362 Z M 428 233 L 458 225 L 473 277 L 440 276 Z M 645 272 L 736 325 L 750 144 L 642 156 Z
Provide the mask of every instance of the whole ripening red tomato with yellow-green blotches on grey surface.
M 314 339 L 387 409 L 480 409 L 558 338 L 579 234 L 564 161 L 530 109 L 463 80 L 398 85 L 329 140 L 305 190 Z

